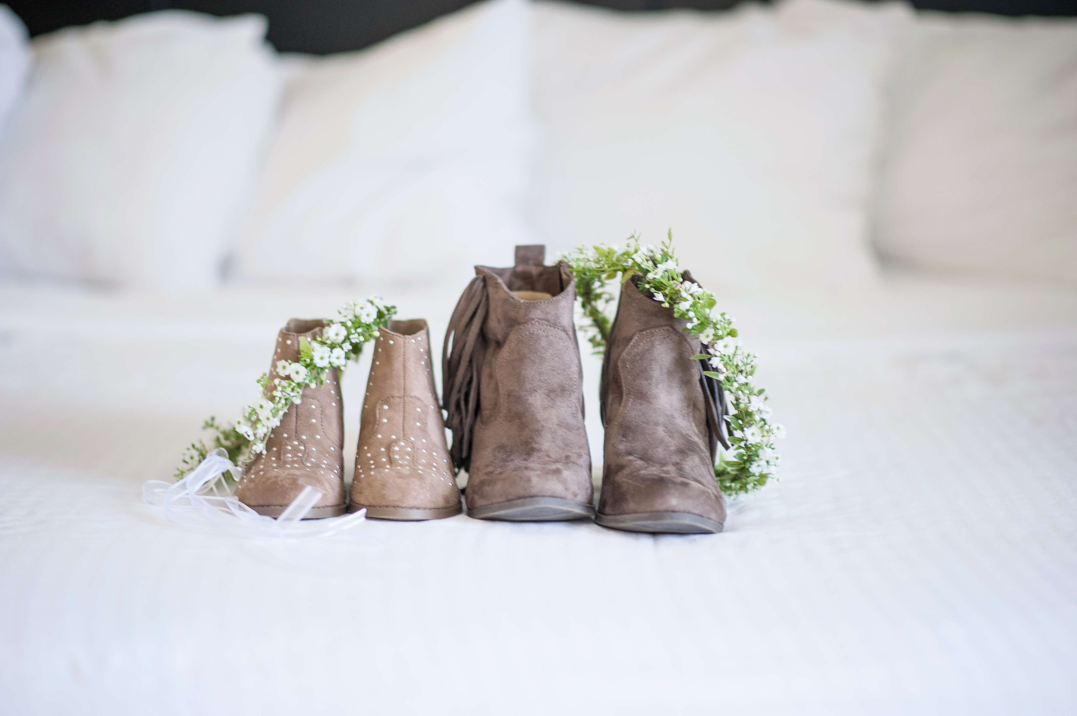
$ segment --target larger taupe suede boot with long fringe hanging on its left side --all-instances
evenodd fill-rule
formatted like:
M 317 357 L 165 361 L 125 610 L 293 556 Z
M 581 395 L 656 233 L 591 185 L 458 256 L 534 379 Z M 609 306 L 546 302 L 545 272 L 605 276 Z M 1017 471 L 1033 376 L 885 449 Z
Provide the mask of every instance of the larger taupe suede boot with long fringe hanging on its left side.
M 471 517 L 595 514 L 575 283 L 565 264 L 544 266 L 544 253 L 517 247 L 516 266 L 476 266 L 446 332 L 444 402 Z

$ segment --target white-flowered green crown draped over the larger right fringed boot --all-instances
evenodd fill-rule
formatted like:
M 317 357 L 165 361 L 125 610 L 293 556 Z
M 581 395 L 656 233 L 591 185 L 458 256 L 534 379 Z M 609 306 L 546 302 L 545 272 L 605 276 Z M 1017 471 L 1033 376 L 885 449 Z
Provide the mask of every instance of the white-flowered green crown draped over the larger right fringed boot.
M 673 235 L 660 247 L 641 244 L 632 235 L 628 248 L 597 245 L 581 247 L 560 256 L 576 279 L 576 296 L 584 318 L 590 325 L 583 331 L 596 353 L 601 353 L 610 338 L 610 319 L 614 294 L 610 282 L 618 276 L 621 283 L 640 276 L 640 291 L 662 306 L 673 309 L 673 315 L 687 321 L 685 331 L 699 338 L 703 353 L 693 356 L 707 361 L 710 370 L 703 373 L 722 382 L 727 405 L 731 454 L 721 454 L 714 476 L 726 494 L 751 492 L 774 477 L 780 458 L 774 439 L 785 437 L 785 429 L 771 422 L 770 406 L 761 388 L 756 388 L 755 355 L 743 350 L 733 327 L 733 319 L 715 308 L 714 294 L 698 283 L 686 281 L 673 253 Z

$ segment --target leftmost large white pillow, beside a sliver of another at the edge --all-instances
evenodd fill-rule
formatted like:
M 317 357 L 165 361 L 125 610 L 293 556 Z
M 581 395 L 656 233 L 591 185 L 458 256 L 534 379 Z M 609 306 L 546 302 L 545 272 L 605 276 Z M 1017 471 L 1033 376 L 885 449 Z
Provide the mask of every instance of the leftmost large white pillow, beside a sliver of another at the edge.
M 36 40 L 0 148 L 0 273 L 216 280 L 279 99 L 265 30 L 167 11 Z

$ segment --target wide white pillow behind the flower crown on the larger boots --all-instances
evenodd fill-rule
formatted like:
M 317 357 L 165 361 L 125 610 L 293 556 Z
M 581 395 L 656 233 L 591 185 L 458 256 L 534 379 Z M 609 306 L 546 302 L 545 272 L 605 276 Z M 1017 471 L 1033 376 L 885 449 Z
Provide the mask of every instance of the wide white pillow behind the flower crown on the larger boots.
M 906 10 L 535 12 L 548 243 L 671 228 L 712 290 L 872 280 L 873 152 Z

